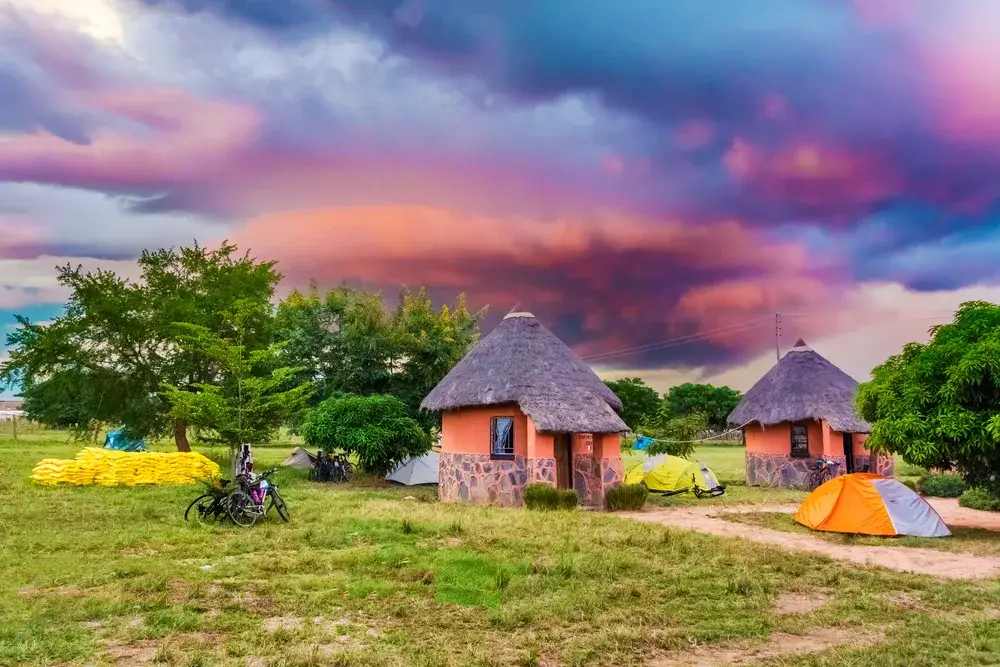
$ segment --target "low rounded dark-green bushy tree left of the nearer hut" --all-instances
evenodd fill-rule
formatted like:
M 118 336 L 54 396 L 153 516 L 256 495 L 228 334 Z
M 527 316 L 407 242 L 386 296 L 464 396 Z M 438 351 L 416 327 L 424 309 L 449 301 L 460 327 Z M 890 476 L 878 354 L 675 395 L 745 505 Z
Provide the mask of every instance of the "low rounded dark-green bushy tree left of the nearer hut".
M 385 477 L 430 451 L 430 436 L 409 412 L 395 396 L 335 396 L 309 411 L 302 435 L 313 447 L 356 455 L 366 472 Z

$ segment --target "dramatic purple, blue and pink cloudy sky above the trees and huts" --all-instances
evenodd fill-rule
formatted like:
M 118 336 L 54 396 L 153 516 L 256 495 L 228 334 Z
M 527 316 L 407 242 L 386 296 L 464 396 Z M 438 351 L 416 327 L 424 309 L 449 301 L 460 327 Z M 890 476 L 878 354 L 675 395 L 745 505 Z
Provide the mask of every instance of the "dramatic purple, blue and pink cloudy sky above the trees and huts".
M 608 376 L 865 379 L 1000 301 L 997 0 L 0 0 L 0 329 L 228 238 Z M 2 354 L 2 353 L 0 353 Z

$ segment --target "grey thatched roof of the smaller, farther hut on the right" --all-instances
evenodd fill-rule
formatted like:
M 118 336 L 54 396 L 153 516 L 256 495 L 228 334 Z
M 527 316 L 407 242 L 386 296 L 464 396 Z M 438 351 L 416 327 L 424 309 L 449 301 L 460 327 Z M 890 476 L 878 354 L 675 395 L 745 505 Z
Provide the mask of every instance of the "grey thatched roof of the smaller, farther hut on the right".
M 729 423 L 825 420 L 845 433 L 871 433 L 854 411 L 858 382 L 814 352 L 801 339 L 757 381 L 729 415 Z

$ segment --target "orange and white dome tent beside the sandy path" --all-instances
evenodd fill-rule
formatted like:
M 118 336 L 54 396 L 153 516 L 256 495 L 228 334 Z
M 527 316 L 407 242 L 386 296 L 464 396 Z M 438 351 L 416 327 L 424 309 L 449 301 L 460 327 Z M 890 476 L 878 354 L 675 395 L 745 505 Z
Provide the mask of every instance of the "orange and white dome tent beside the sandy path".
M 841 475 L 821 484 L 802 502 L 795 520 L 813 530 L 834 533 L 951 535 L 934 508 L 912 489 L 870 473 Z

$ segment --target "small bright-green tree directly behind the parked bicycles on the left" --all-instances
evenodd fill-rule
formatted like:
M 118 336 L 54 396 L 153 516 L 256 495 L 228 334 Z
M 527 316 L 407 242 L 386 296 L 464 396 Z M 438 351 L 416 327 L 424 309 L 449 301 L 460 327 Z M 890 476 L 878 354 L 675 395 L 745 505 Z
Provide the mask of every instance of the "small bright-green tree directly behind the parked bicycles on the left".
M 243 443 L 270 440 L 282 424 L 304 409 L 312 390 L 309 382 L 302 381 L 301 369 L 282 365 L 280 346 L 247 347 L 260 308 L 259 303 L 240 302 L 235 310 L 223 313 L 229 338 L 200 325 L 175 325 L 180 349 L 204 359 L 211 370 L 206 371 L 210 381 L 194 384 L 194 391 L 163 387 L 170 416 L 231 450 Z

